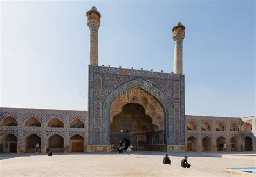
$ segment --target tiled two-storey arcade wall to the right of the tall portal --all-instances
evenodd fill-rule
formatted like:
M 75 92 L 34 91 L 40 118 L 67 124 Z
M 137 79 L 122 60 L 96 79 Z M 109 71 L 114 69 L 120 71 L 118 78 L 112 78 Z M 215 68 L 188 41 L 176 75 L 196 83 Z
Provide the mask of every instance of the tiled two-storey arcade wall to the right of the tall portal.
M 256 116 L 250 117 L 213 117 L 213 116 L 191 116 L 186 115 L 186 144 L 190 137 L 196 139 L 196 146 L 198 151 L 202 151 L 202 139 L 210 137 L 212 151 L 217 151 L 217 138 L 224 137 L 221 144 L 226 144 L 226 150 L 231 151 L 231 138 L 235 138 L 235 148 L 237 151 L 245 151 L 245 139 L 250 137 L 252 139 L 251 150 L 256 151 Z M 203 130 L 204 123 L 210 125 L 210 130 Z M 217 125 L 223 125 L 224 130 L 217 131 Z M 191 129 L 191 125 L 194 128 Z M 234 126 L 237 126 L 235 128 Z M 247 128 L 247 129 L 246 129 Z

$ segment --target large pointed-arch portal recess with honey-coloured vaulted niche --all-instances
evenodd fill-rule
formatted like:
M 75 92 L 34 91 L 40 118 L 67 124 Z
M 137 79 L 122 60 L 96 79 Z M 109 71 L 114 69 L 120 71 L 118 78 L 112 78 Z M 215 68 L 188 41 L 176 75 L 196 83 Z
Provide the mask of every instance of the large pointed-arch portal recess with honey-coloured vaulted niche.
M 140 88 L 120 95 L 110 108 L 110 143 L 133 150 L 164 151 L 164 110 L 158 100 Z

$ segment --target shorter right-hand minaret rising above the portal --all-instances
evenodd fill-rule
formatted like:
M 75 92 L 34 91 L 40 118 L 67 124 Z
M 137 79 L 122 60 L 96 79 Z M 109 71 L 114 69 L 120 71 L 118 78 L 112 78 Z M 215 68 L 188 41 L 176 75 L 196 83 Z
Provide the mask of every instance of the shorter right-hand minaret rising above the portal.
M 182 74 L 182 42 L 185 37 L 185 26 L 181 22 L 176 23 L 172 29 L 172 39 L 175 42 L 174 48 L 174 74 Z

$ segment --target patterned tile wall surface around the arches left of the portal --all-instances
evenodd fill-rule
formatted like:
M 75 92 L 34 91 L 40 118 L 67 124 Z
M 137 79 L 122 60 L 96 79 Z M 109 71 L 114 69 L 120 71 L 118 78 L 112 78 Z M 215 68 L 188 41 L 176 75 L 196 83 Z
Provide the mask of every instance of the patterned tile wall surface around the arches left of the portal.
M 0 107 L 0 119 L 11 116 L 18 122 L 18 126 L 0 126 L 0 136 L 5 133 L 12 133 L 18 138 L 18 145 L 23 144 L 25 136 L 37 134 L 41 137 L 41 144 L 47 144 L 47 138 L 58 134 L 64 138 L 64 144 L 69 145 L 69 138 L 75 134 L 84 137 L 85 144 L 88 143 L 88 116 L 87 111 L 52 110 L 52 109 L 25 109 Z M 26 119 L 35 117 L 41 122 L 41 127 L 24 126 Z M 47 127 L 47 122 L 52 118 L 58 118 L 64 123 L 64 128 Z M 84 128 L 70 128 L 69 123 L 73 119 L 80 119 L 85 125 Z

